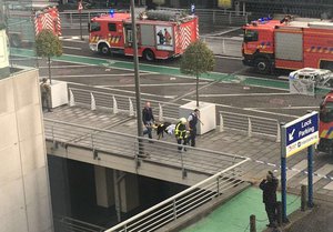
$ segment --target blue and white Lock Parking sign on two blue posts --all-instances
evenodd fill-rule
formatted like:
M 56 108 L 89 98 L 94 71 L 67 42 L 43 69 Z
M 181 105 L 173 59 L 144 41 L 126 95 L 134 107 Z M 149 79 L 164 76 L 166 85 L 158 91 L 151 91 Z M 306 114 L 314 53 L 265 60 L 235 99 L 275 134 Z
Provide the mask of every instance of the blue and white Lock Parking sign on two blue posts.
M 319 141 L 317 112 L 311 112 L 292 122 L 281 125 L 281 198 L 282 220 L 286 218 L 286 158 L 307 148 L 309 206 L 313 206 L 312 157 L 313 144 Z

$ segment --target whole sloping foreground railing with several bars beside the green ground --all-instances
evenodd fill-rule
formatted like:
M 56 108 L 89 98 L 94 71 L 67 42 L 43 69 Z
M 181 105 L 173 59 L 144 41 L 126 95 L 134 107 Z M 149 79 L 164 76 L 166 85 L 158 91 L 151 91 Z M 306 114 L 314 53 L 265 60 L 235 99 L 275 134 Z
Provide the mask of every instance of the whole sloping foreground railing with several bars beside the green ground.
M 105 230 L 105 232 L 150 232 L 174 222 L 186 213 L 208 203 L 242 182 L 233 171 L 243 160 L 161 203 Z

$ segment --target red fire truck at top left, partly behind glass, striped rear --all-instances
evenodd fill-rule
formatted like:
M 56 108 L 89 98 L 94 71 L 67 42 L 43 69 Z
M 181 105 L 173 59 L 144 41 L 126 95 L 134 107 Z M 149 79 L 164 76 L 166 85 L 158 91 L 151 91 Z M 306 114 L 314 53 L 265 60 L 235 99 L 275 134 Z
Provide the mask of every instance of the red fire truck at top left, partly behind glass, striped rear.
M 33 42 L 34 37 L 43 29 L 61 36 L 60 17 L 56 6 L 32 4 L 27 6 L 24 10 L 9 10 L 8 36 L 12 47 Z

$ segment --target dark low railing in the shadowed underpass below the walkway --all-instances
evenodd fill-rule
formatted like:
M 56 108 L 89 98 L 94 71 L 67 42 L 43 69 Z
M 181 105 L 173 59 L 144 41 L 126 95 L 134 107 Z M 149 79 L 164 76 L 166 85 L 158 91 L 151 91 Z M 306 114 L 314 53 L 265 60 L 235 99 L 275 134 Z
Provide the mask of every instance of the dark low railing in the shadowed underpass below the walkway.
M 69 216 L 54 216 L 54 225 L 61 232 L 102 232 L 105 228 Z

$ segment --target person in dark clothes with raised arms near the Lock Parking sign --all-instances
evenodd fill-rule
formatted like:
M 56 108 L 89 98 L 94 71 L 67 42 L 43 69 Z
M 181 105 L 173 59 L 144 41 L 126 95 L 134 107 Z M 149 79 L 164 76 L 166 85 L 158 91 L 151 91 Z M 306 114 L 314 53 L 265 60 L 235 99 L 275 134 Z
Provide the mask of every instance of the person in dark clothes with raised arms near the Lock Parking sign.
M 276 189 L 279 180 L 274 176 L 273 172 L 269 171 L 266 179 L 262 180 L 259 188 L 263 191 L 262 198 L 265 204 L 265 211 L 269 218 L 269 228 L 276 226 Z

